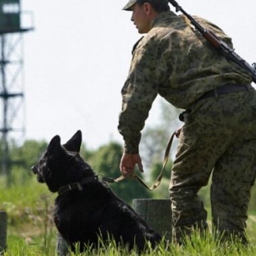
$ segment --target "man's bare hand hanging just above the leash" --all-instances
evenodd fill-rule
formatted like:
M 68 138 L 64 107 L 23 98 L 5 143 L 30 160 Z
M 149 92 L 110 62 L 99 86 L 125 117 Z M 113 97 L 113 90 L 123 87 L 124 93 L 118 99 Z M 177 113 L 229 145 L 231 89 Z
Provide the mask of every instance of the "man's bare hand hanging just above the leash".
M 139 154 L 123 153 L 120 162 L 120 170 L 124 177 L 128 177 L 134 172 L 135 164 L 137 164 L 139 170 L 143 172 L 143 166 Z

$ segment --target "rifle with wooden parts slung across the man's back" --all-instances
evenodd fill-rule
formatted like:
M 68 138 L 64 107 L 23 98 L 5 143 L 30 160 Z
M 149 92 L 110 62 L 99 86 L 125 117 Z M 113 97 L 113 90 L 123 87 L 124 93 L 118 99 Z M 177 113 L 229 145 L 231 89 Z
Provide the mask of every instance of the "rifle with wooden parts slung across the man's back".
M 203 26 L 201 26 L 198 22 L 196 22 L 195 19 L 191 15 L 189 15 L 189 13 L 184 11 L 184 9 L 179 5 L 179 3 L 177 3 L 177 1 L 175 0 L 168 0 L 168 1 L 171 3 L 171 5 L 173 5 L 176 8 L 177 12 L 181 11 L 189 19 L 189 21 L 195 27 L 195 29 L 198 30 L 202 34 L 202 36 L 208 42 L 210 42 L 212 46 L 214 46 L 215 49 L 217 49 L 220 53 L 222 53 L 222 55 L 224 55 L 226 59 L 233 61 L 234 63 L 236 63 L 243 69 L 245 69 L 245 71 L 251 73 L 253 82 L 255 82 L 256 84 L 256 63 L 253 63 L 253 65 L 250 65 L 249 63 L 247 63 L 247 61 L 245 61 L 239 55 L 237 55 L 234 52 L 234 49 L 230 48 L 230 46 L 228 46 L 226 42 L 223 42 L 218 36 L 216 36 L 214 32 L 207 30 L 207 28 L 203 28 Z

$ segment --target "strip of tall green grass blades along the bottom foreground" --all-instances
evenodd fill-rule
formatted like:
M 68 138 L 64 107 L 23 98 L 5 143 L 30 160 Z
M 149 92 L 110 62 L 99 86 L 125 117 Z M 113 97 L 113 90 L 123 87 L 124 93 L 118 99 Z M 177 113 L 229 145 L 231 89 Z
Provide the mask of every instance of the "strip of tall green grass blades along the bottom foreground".
M 252 242 L 252 241 L 251 241 Z M 255 242 L 255 241 L 254 241 Z M 40 248 L 38 245 L 27 245 L 26 243 L 20 244 L 20 245 L 13 245 L 10 247 L 5 255 L 46 255 L 46 256 L 53 256 L 55 255 L 55 248 L 54 246 L 51 247 L 50 250 L 44 251 L 43 248 Z M 118 247 L 115 245 L 113 241 L 110 241 L 107 243 L 107 245 L 104 245 L 103 243 L 100 243 L 99 249 L 92 249 L 91 247 L 88 247 L 85 253 L 79 253 L 78 252 L 78 246 L 77 246 L 77 252 L 70 253 L 71 256 L 77 256 L 77 255 L 113 255 L 113 256 L 119 256 L 119 255 L 131 255 L 135 256 L 138 255 L 138 252 L 136 249 L 133 249 L 130 253 L 124 248 L 124 247 Z M 179 246 L 174 244 L 166 245 L 166 243 L 162 242 L 156 249 L 152 249 L 150 246 L 147 247 L 146 251 L 144 253 L 141 253 L 141 255 L 150 255 L 150 256 L 156 256 L 156 255 L 187 255 L 187 256 L 220 256 L 220 255 L 226 255 L 226 256 L 255 256 L 256 255 L 256 247 L 255 243 L 251 243 L 248 247 L 244 247 L 240 243 L 228 243 L 228 244 L 221 244 L 218 241 L 214 241 L 212 239 L 212 236 L 210 234 L 205 235 L 204 238 L 201 238 L 199 234 L 195 233 L 192 235 L 191 238 L 187 239 L 185 245 Z

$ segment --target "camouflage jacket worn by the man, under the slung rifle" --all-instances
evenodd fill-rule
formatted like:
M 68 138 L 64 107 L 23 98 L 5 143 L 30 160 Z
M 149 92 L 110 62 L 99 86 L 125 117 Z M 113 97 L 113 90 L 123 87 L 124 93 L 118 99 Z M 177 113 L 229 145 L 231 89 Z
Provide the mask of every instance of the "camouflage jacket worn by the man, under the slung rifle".
M 231 38 L 216 25 L 194 18 L 232 46 Z M 217 53 L 183 15 L 160 13 L 137 43 L 122 89 L 118 128 L 125 152 L 139 152 L 141 130 L 158 94 L 177 108 L 188 108 L 205 92 L 224 84 L 251 84 L 251 76 Z

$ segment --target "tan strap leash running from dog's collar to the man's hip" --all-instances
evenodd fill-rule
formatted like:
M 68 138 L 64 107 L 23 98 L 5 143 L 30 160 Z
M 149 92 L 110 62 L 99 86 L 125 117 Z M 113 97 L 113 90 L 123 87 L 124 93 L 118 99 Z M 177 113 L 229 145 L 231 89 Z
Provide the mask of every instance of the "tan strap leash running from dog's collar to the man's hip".
M 137 179 L 137 181 L 139 181 L 139 183 L 141 183 L 141 185 L 143 185 L 143 187 L 146 187 L 150 191 L 156 189 L 162 181 L 162 174 L 163 174 L 164 169 L 166 167 L 166 164 L 168 162 L 168 158 L 169 158 L 169 154 L 170 154 L 170 148 L 172 147 L 172 141 L 173 141 L 175 135 L 177 137 L 179 137 L 178 131 L 174 131 L 174 133 L 172 133 L 172 135 L 170 136 L 170 139 L 168 141 L 168 144 L 167 144 L 167 147 L 166 147 L 166 150 L 165 150 L 165 153 L 164 153 L 164 163 L 162 165 L 162 170 L 160 171 L 160 174 L 158 175 L 158 178 L 156 179 L 156 182 L 151 187 L 149 187 L 146 183 L 144 183 L 144 181 L 137 174 L 135 174 L 134 172 L 132 174 L 130 174 L 128 177 L 124 177 L 123 175 L 121 175 L 117 179 L 108 178 L 108 179 L 111 180 L 111 181 L 108 181 L 108 182 L 110 182 L 110 183 L 119 183 L 120 181 L 123 181 L 124 179 L 130 179 L 131 178 L 131 179 Z

